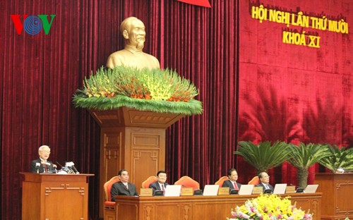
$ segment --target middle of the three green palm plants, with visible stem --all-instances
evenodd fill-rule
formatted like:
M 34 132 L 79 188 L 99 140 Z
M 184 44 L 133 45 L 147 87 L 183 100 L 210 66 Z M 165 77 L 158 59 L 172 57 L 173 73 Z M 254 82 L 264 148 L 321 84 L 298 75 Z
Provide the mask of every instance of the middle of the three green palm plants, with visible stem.
M 306 185 L 308 185 L 309 167 L 328 157 L 330 152 L 328 152 L 327 147 L 321 144 L 309 143 L 306 145 L 300 142 L 299 146 L 290 145 L 292 148 L 289 151 L 291 155 L 289 163 L 297 168 L 299 187 L 306 188 Z

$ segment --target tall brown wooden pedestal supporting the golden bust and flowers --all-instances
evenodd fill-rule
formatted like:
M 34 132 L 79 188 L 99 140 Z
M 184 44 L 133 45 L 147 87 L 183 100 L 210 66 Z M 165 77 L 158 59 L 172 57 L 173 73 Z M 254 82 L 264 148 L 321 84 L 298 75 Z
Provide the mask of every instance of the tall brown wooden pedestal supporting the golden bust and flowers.
M 100 124 L 100 207 L 103 185 L 126 169 L 137 190 L 149 176 L 165 169 L 165 130 L 183 114 L 138 111 L 122 107 L 90 114 Z M 102 216 L 102 212 L 100 212 Z

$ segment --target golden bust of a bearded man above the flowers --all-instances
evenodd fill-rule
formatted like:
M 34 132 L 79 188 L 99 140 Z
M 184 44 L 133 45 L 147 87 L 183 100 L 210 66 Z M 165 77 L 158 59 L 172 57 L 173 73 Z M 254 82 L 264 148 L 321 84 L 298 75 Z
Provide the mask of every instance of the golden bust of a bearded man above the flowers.
M 155 56 L 142 51 L 145 43 L 145 25 L 135 17 L 123 20 L 120 32 L 125 38 L 126 46 L 120 51 L 110 54 L 107 67 L 133 66 L 136 68 L 160 68 L 160 62 Z

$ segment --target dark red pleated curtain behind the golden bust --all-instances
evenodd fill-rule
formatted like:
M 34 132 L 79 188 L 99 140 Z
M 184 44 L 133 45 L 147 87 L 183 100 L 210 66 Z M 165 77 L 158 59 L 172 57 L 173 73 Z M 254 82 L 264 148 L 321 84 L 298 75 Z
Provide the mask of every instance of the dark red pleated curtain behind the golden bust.
M 21 177 L 49 145 L 49 159 L 74 161 L 90 178 L 90 219 L 98 218 L 100 128 L 72 96 L 107 56 L 124 48 L 121 20 L 147 30 L 144 51 L 199 89 L 204 113 L 167 131 L 169 182 L 189 175 L 214 183 L 234 166 L 237 96 L 237 3 L 213 8 L 178 1 L 5 1 L 1 4 L 1 219 L 20 219 Z M 48 35 L 16 32 L 10 15 L 56 15 Z M 215 40 L 216 39 L 216 40 Z

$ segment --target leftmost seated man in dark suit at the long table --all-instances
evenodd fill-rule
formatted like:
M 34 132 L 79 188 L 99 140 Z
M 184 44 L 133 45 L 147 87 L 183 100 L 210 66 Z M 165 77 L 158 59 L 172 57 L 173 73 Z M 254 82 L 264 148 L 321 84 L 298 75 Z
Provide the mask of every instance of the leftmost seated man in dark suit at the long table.
M 112 201 L 115 202 L 116 195 L 138 195 L 136 187 L 132 183 L 128 183 L 128 171 L 122 169 L 118 172 L 119 182 L 112 185 L 110 194 L 112 195 Z

